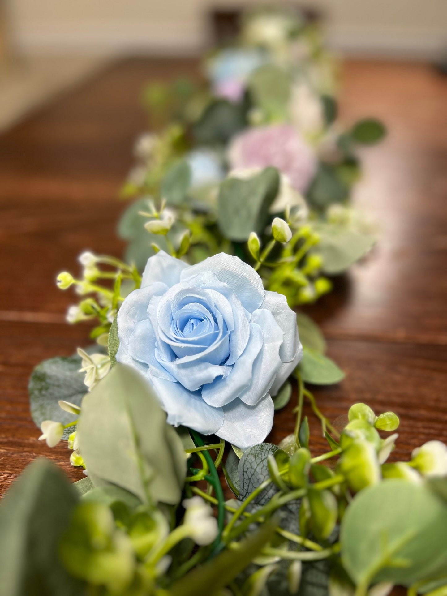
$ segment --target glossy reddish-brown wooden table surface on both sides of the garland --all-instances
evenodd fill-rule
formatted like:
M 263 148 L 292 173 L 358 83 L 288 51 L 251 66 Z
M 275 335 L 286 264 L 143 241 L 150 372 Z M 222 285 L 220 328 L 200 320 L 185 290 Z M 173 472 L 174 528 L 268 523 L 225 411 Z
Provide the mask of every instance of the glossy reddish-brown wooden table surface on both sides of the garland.
M 0 137 L 0 493 L 39 455 L 82 477 L 63 445 L 37 441 L 29 415 L 32 368 L 72 354 L 88 337 L 86 325 L 64 322 L 76 298 L 55 287 L 55 275 L 76 272 L 84 249 L 122 253 L 115 227 L 125 206 L 117 191 L 133 141 L 147 128 L 142 86 L 194 72 L 191 60 L 120 61 Z M 342 383 L 315 395 L 331 420 L 357 401 L 395 411 L 402 423 L 394 458 L 430 439 L 447 442 L 446 105 L 446 79 L 429 66 L 343 67 L 343 120 L 377 116 L 389 136 L 364 151 L 355 192 L 380 227 L 378 246 L 308 309 L 346 371 Z M 293 429 L 293 405 L 277 415 L 274 442 Z M 313 418 L 311 430 L 321 452 Z

